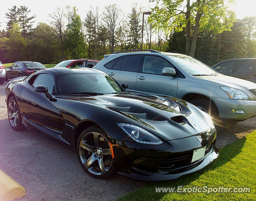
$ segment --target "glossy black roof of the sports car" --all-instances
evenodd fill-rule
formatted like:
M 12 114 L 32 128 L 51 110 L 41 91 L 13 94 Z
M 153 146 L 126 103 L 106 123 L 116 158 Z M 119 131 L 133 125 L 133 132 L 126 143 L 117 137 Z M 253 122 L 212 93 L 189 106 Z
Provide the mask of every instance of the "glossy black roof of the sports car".
M 47 73 L 52 75 L 53 77 L 57 77 L 59 75 L 67 75 L 67 74 L 106 74 L 100 70 L 92 69 L 92 68 L 48 68 L 46 70 L 40 70 L 37 74 Z

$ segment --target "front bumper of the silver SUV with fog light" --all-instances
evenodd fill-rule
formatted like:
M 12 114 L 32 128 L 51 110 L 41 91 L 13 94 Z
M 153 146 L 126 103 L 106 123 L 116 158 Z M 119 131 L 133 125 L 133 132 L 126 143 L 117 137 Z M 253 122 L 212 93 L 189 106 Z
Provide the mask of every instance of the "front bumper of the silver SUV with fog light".
M 256 101 L 254 100 L 234 100 L 228 98 L 212 98 L 217 106 L 220 120 L 222 121 L 244 121 L 256 116 Z M 231 109 L 245 111 L 245 114 L 235 114 Z

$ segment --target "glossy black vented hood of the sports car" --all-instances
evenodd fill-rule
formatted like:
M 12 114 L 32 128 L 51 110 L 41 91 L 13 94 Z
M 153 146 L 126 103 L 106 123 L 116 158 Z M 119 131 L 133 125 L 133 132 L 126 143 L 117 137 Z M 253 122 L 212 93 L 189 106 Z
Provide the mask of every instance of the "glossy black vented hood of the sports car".
M 119 113 L 128 118 L 126 122 L 119 122 L 119 114 L 112 113 L 109 118 L 115 123 L 136 124 L 164 140 L 189 137 L 210 128 L 206 113 L 178 98 L 168 99 L 153 95 L 142 97 L 130 94 L 65 98 Z

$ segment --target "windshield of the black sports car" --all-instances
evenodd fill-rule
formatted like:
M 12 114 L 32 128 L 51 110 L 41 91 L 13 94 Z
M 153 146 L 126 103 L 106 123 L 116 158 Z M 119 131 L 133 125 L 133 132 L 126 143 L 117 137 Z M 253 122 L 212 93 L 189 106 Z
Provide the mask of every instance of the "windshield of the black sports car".
M 58 94 L 125 93 L 112 77 L 105 74 L 69 74 L 57 77 Z

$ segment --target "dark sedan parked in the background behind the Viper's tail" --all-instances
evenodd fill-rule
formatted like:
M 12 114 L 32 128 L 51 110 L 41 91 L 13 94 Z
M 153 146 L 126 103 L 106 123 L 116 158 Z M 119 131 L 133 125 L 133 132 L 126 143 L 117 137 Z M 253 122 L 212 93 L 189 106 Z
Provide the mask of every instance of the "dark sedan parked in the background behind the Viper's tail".
M 23 77 L 31 75 L 39 70 L 45 70 L 46 67 L 39 62 L 15 62 L 6 69 L 5 80 L 14 77 Z

